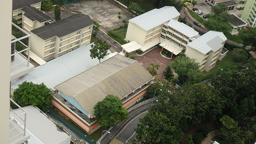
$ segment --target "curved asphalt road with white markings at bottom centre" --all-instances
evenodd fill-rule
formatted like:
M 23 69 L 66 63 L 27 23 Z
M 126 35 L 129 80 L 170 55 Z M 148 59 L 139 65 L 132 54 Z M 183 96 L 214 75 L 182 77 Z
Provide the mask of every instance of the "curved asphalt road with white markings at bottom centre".
M 117 134 L 116 139 L 121 141 L 124 144 L 131 144 L 131 140 L 135 139 L 137 133 L 135 132 L 135 128 L 137 128 L 137 124 L 139 123 L 139 118 L 142 118 L 147 114 L 148 111 L 145 111 L 139 115 L 137 115 L 133 120 L 131 120 L 120 133 Z

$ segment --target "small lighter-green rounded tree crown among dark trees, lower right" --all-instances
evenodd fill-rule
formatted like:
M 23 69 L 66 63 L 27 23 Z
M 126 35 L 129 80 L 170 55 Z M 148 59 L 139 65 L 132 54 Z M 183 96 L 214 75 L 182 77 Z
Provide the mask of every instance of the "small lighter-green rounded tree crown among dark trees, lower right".
M 238 129 L 238 127 L 237 127 L 238 122 L 235 121 L 234 119 L 230 118 L 226 114 L 223 115 L 223 117 L 220 118 L 219 120 L 223 124 L 223 127 L 221 128 L 221 131 L 223 133 L 231 134 L 231 133 L 234 133 Z

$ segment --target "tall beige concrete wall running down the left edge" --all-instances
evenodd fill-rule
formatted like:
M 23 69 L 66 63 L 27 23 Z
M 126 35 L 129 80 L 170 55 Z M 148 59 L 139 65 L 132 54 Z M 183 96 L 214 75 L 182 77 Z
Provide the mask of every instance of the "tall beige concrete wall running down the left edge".
M 1 24 L 1 57 L 0 57 L 0 141 L 3 144 L 9 143 L 9 108 L 10 108 L 10 72 L 11 72 L 11 21 L 12 21 L 12 0 L 3 1 L 0 9 Z

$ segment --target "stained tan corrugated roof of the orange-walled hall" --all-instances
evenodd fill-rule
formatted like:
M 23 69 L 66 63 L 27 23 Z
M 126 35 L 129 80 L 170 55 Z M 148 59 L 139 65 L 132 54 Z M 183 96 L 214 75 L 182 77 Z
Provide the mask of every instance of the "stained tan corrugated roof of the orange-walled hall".
M 121 99 L 152 78 L 136 60 L 117 54 L 55 88 L 73 96 L 84 110 L 94 115 L 94 105 L 106 95 Z

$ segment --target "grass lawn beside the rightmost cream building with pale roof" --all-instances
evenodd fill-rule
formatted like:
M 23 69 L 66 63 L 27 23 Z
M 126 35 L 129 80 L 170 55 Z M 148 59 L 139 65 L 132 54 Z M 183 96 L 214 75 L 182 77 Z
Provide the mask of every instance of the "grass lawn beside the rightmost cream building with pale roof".
M 221 60 L 221 61 L 217 61 L 215 67 L 213 69 L 211 69 L 211 71 L 204 71 L 203 74 L 209 75 L 211 73 L 215 74 L 218 68 L 225 68 L 226 66 L 229 66 L 231 64 L 234 64 L 235 62 L 232 60 L 233 54 L 232 54 L 232 50 L 230 50 L 229 52 L 227 52 L 226 57 Z M 218 71 L 221 71 L 221 69 L 218 69 Z

